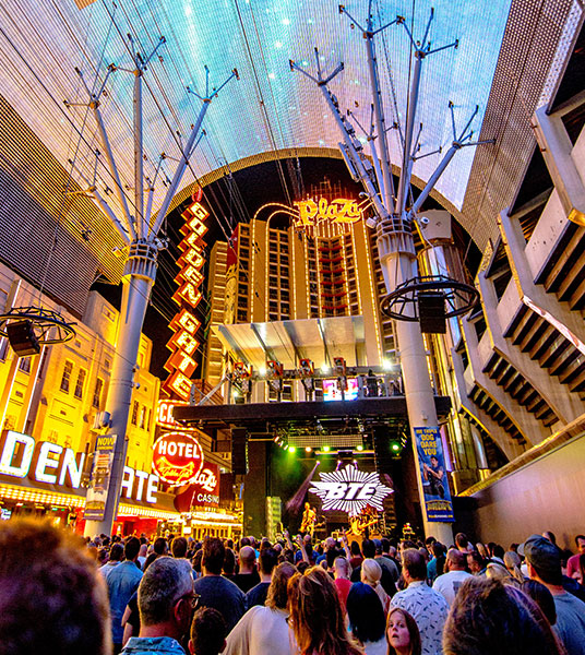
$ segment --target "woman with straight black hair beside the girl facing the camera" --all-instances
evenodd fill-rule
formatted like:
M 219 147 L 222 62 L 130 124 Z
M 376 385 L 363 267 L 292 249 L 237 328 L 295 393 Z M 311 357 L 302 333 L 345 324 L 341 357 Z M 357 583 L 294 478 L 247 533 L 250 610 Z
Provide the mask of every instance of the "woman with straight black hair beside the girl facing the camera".
M 385 616 L 378 594 L 367 584 L 356 582 L 347 596 L 349 628 L 366 655 L 386 655 Z

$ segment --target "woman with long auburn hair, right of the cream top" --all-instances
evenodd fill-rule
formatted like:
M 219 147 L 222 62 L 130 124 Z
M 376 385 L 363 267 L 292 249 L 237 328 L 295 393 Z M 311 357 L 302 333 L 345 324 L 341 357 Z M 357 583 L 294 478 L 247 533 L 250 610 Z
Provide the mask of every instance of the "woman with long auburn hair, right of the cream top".
M 288 610 L 301 655 L 363 655 L 349 638 L 337 590 L 321 567 L 292 575 Z

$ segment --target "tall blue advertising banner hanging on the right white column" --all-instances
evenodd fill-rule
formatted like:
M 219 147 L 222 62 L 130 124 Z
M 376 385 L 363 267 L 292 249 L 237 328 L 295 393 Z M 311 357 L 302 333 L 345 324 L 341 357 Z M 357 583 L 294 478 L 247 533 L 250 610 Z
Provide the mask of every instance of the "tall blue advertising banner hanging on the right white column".
M 425 505 L 429 521 L 452 522 L 453 503 L 445 475 L 443 443 L 439 427 L 415 428 Z

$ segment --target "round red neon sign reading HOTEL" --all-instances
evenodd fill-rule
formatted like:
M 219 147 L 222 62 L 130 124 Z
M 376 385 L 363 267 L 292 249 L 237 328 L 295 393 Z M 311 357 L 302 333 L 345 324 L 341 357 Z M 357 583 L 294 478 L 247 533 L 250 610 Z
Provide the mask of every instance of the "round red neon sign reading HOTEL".
M 172 487 L 191 485 L 203 468 L 203 450 L 187 432 L 168 432 L 155 441 L 153 467 Z

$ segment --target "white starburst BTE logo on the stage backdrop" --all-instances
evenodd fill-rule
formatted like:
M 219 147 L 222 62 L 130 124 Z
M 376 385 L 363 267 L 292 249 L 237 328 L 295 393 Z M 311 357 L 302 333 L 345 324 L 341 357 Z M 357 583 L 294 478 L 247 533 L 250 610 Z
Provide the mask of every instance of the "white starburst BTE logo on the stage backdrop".
M 357 516 L 367 505 L 381 512 L 384 498 L 393 489 L 382 485 L 378 473 L 359 471 L 351 464 L 333 473 L 320 473 L 320 483 L 311 483 L 309 489 L 323 501 L 323 511 L 341 510 Z

